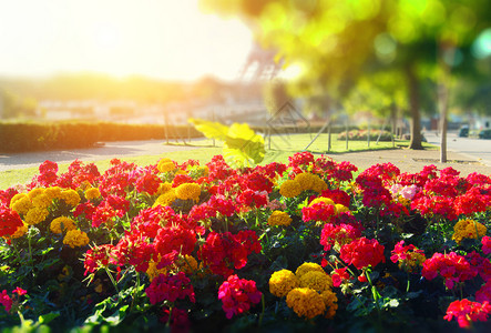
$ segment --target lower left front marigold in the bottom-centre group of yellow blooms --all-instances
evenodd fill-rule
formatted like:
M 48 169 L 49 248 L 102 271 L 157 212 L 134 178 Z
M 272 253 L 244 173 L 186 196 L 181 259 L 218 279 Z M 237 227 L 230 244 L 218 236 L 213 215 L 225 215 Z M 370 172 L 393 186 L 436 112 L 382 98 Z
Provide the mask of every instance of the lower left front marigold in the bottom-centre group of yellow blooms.
M 296 287 L 286 296 L 286 305 L 298 316 L 313 319 L 326 311 L 326 303 L 318 292 L 310 287 Z

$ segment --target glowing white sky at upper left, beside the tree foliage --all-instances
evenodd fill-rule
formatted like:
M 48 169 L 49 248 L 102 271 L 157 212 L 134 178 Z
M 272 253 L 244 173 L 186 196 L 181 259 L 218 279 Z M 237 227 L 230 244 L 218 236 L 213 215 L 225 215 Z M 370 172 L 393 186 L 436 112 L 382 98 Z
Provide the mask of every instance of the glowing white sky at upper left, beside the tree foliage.
M 198 0 L 0 0 L 0 75 L 93 71 L 236 78 L 252 48 L 238 20 Z

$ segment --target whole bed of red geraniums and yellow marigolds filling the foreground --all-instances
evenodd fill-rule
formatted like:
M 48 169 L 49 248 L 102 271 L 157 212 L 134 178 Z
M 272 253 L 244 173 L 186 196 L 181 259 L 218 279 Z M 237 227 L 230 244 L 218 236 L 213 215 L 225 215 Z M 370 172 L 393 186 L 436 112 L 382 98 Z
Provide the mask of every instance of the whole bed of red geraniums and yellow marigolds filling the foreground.
M 0 325 L 484 329 L 491 179 L 356 171 L 308 152 L 241 170 L 47 161 L 0 191 Z

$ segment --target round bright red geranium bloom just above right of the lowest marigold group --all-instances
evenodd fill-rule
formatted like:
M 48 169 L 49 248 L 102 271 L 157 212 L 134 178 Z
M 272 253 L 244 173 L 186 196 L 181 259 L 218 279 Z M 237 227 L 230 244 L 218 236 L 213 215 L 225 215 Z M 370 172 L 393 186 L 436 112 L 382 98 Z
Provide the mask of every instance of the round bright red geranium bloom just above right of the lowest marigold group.
M 383 245 L 377 240 L 361 238 L 345 244 L 340 251 L 340 258 L 347 264 L 352 264 L 358 270 L 371 265 L 375 268 L 380 262 L 386 262 L 383 256 Z

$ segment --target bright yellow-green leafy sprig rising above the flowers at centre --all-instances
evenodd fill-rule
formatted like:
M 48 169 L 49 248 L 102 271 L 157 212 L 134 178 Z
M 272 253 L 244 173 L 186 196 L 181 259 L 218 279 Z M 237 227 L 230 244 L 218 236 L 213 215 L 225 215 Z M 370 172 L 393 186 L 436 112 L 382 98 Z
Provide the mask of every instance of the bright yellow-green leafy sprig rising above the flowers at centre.
M 231 127 L 218 122 L 191 119 L 191 123 L 206 138 L 224 142 L 224 157 L 236 165 L 258 164 L 266 150 L 263 137 L 256 134 L 247 123 L 233 123 Z

